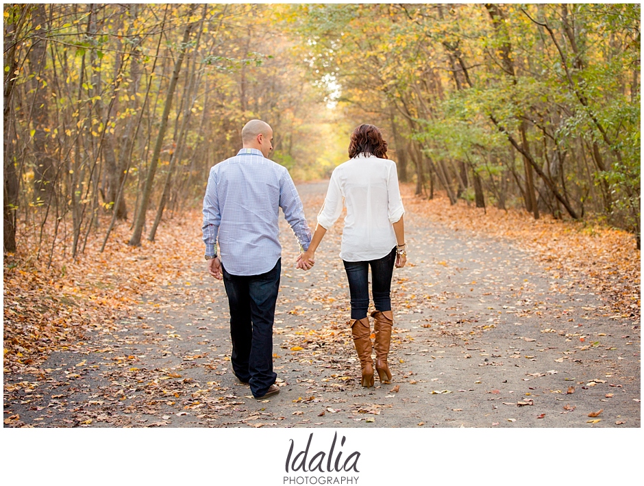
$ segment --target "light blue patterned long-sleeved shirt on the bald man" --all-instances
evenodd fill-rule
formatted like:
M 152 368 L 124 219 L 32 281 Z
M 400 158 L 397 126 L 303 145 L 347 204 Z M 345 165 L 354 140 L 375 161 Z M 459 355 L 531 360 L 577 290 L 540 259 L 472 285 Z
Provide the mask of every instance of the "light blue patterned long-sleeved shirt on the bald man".
M 206 255 L 216 253 L 227 272 L 259 275 L 282 256 L 280 207 L 299 244 L 308 249 L 311 231 L 304 207 L 286 167 L 264 158 L 258 149 L 241 149 L 210 169 L 203 198 Z

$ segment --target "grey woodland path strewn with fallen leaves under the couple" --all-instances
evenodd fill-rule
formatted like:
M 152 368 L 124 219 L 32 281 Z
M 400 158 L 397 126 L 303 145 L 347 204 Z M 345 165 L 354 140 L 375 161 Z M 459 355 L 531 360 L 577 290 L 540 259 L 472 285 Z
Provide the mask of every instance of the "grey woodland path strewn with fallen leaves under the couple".
M 298 189 L 314 222 L 326 183 Z M 223 284 L 199 254 L 116 331 L 52 354 L 38 380 L 5 378 L 5 426 L 641 426 L 639 322 L 510 241 L 405 218 L 391 385 L 360 387 L 341 221 L 309 272 L 282 221 L 279 396 L 257 402 L 237 383 Z

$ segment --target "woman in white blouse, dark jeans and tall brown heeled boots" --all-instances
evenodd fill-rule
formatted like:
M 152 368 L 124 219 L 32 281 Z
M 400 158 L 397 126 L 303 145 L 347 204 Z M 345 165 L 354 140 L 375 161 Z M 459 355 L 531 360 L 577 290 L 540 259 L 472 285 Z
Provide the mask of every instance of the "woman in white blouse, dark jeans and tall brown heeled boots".
M 405 266 L 407 251 L 403 214 L 395 162 L 387 159 L 387 143 L 373 125 L 360 125 L 351 133 L 349 161 L 331 175 L 317 228 L 298 267 L 314 264 L 315 250 L 327 229 L 340 217 L 343 199 L 347 217 L 342 233 L 343 259 L 351 294 L 351 335 L 362 368 L 362 386 L 373 386 L 369 309 L 369 267 L 375 312 L 375 370 L 380 383 L 391 383 L 387 355 L 391 342 L 391 277 L 394 265 Z

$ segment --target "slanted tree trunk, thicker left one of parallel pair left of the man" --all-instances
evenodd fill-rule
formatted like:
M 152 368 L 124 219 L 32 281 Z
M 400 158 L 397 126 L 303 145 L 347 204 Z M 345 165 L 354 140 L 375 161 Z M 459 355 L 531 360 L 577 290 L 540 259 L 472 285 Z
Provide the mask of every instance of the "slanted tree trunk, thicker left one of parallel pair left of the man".
M 189 12 L 187 16 L 192 15 L 192 12 L 195 8 L 195 5 L 190 5 Z M 179 52 L 179 57 L 175 62 L 175 68 L 172 73 L 172 78 L 170 79 L 170 85 L 168 86 L 168 93 L 166 94 L 166 102 L 163 108 L 163 114 L 161 116 L 161 125 L 159 127 L 159 133 L 157 135 L 156 144 L 154 145 L 154 151 L 152 153 L 152 158 L 150 160 L 150 167 L 147 172 L 147 178 L 145 180 L 145 186 L 143 187 L 143 194 L 141 194 L 140 205 L 138 212 L 136 214 L 136 222 L 134 224 L 134 232 L 132 238 L 129 240 L 129 245 L 131 246 L 140 246 L 141 244 L 141 235 L 143 233 L 143 225 L 145 225 L 145 212 L 147 211 L 147 205 L 150 201 L 150 196 L 152 193 L 152 185 L 154 182 L 154 173 L 158 166 L 159 157 L 161 155 L 161 148 L 163 146 L 163 138 L 165 136 L 166 128 L 168 127 L 168 118 L 170 116 L 170 108 L 172 105 L 172 98 L 175 93 L 175 88 L 177 87 L 177 80 L 179 79 L 179 71 L 181 70 L 181 64 L 184 61 L 186 56 L 186 50 L 188 49 L 188 40 L 190 38 L 190 31 L 192 30 L 193 24 L 189 23 L 186 25 L 184 30 L 184 38 L 181 44 L 181 51 Z

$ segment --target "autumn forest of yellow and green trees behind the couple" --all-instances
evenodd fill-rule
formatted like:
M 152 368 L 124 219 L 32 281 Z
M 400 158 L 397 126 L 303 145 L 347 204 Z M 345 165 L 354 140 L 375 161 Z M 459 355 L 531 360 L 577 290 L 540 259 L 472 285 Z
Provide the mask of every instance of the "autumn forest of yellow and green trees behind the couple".
M 419 197 L 614 227 L 639 249 L 640 15 L 5 4 L 5 287 L 55 287 L 80 258 L 162 238 L 162 220 L 199 209 L 252 118 L 273 127 L 271 157 L 296 181 L 328 177 L 372 123 Z M 60 339 L 41 312 L 5 306 L 5 363 Z

